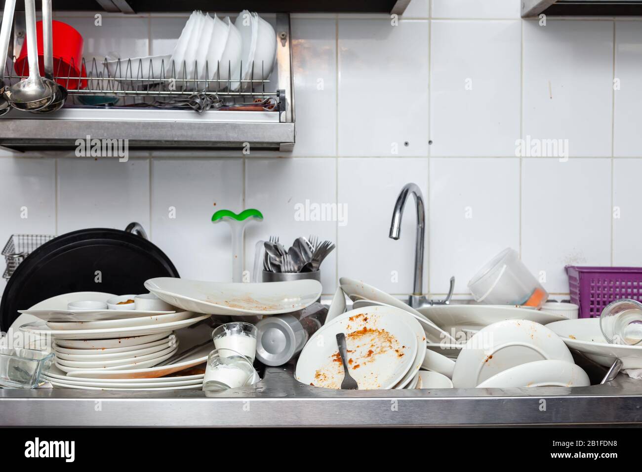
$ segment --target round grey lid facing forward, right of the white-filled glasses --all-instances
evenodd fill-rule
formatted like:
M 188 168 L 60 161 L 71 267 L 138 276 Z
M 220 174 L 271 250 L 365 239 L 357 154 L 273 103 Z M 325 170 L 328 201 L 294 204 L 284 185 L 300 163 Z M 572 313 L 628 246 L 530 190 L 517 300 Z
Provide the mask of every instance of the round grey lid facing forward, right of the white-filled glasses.
M 283 365 L 295 354 L 297 337 L 281 317 L 268 317 L 256 324 L 256 358 L 265 365 Z

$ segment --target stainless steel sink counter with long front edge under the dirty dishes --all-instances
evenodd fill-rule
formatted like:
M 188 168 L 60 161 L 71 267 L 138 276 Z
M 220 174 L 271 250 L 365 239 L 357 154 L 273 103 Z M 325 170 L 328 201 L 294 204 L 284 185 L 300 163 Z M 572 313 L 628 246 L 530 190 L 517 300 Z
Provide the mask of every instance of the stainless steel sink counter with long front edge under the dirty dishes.
M 642 383 L 538 389 L 326 390 L 270 368 L 204 392 L 0 390 L 3 426 L 467 426 L 642 423 Z

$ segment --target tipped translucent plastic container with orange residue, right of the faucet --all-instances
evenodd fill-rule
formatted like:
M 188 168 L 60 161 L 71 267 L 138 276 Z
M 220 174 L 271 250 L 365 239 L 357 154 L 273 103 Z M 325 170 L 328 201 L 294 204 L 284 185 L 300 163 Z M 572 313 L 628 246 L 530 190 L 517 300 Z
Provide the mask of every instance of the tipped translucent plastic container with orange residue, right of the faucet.
M 548 299 L 544 287 L 530 273 L 519 254 L 507 248 L 487 263 L 468 283 L 477 302 L 540 308 Z

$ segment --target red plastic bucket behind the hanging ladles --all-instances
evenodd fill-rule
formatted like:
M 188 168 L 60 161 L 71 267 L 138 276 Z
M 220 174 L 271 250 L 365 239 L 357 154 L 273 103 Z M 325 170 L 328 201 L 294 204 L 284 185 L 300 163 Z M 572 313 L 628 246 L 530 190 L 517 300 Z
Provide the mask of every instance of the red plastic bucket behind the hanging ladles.
M 53 33 L 53 74 L 56 77 L 76 77 L 67 79 L 57 79 L 56 82 L 66 89 L 77 89 L 78 78 L 87 76 L 85 67 L 82 66 L 82 48 L 83 39 L 80 33 L 67 23 L 62 21 L 51 22 Z M 42 55 L 42 21 L 36 23 L 36 33 L 38 37 L 38 64 L 40 75 L 44 75 L 44 57 Z M 29 74 L 29 63 L 27 60 L 27 40 L 20 51 L 20 56 L 15 60 L 15 73 L 21 76 Z M 87 87 L 87 80 L 80 81 L 80 88 Z

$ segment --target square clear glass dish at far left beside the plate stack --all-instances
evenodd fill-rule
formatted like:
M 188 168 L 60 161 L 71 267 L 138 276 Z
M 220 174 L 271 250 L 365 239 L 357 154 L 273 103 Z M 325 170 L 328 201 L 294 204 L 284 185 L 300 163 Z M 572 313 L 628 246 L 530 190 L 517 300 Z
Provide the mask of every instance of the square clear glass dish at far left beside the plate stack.
M 0 347 L 0 386 L 35 389 L 53 357 L 53 353 L 35 349 Z

